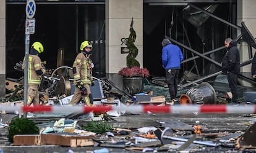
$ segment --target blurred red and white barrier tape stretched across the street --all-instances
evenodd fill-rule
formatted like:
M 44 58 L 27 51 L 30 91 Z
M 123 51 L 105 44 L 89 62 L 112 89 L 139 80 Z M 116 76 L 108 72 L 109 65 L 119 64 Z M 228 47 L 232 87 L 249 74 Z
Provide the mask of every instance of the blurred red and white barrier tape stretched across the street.
M 20 112 L 107 112 L 107 111 L 126 111 L 132 113 L 177 113 L 188 114 L 198 113 L 256 113 L 256 105 L 232 106 L 226 104 L 204 104 L 198 106 L 195 104 L 181 104 L 173 106 L 152 106 L 152 105 L 133 105 L 133 106 L 0 106 L 0 111 L 20 111 Z

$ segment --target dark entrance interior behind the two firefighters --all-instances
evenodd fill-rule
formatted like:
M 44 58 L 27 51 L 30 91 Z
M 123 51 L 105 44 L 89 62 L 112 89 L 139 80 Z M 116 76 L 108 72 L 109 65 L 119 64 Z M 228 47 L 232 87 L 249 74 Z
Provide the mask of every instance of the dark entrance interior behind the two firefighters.
M 6 4 L 6 77 L 19 79 L 22 72 L 14 69 L 25 55 L 26 3 Z M 105 76 L 105 5 L 36 3 L 35 34 L 30 34 L 30 45 L 40 41 L 45 51 L 40 55 L 46 69 L 56 69 L 58 50 L 64 50 L 64 66 L 72 63 L 80 52 L 80 43 L 93 43 L 93 76 Z

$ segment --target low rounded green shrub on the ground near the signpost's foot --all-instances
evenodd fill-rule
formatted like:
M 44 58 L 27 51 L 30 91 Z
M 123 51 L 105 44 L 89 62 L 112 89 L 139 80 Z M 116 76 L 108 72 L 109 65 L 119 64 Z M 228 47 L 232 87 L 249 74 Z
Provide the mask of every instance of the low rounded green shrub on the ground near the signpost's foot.
M 27 118 L 16 118 L 11 121 L 8 130 L 8 139 L 14 143 L 14 135 L 38 135 L 39 129 L 36 124 Z

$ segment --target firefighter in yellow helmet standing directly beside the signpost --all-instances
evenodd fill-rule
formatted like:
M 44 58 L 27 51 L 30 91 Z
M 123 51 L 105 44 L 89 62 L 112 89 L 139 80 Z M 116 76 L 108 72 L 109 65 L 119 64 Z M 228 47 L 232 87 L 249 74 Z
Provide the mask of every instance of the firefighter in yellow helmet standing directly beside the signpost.
M 40 42 L 34 42 L 30 48 L 28 55 L 28 98 L 27 105 L 39 104 L 38 87 L 41 83 L 41 75 L 45 74 L 42 66 L 40 53 L 43 53 L 43 45 Z M 23 60 L 25 64 L 25 57 Z

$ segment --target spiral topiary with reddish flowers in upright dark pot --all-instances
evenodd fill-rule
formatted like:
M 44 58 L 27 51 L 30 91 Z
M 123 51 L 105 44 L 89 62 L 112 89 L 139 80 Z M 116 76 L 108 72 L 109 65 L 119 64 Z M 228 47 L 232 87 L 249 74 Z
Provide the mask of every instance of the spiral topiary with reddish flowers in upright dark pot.
M 150 75 L 148 69 L 140 68 L 139 61 L 135 59 L 138 55 L 139 50 L 134 44 L 136 39 L 136 32 L 133 28 L 133 25 L 134 20 L 132 18 L 132 22 L 130 23 L 130 34 L 126 42 L 127 49 L 129 50 L 129 54 L 126 57 L 127 67 L 122 68 L 118 72 L 119 76 L 122 76 L 123 78 L 122 80 L 124 91 L 129 93 L 130 95 L 143 92 L 143 80 L 145 77 L 148 77 Z

